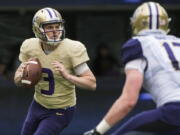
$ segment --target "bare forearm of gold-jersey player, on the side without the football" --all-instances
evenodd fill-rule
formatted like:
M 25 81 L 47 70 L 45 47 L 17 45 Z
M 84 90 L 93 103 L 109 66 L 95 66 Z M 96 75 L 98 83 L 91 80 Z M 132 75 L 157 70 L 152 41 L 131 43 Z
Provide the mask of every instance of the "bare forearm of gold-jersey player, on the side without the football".
M 96 78 L 93 76 L 78 77 L 74 75 L 68 75 L 66 79 L 78 87 L 96 90 Z

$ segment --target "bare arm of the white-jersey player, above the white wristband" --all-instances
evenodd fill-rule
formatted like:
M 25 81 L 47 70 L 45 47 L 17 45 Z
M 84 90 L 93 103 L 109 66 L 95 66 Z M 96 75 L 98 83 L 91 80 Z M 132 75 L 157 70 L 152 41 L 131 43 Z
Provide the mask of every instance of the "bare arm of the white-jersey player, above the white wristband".
M 115 101 L 105 116 L 105 120 L 111 126 L 122 120 L 136 105 L 142 81 L 142 76 L 138 77 L 138 75 L 135 75 L 135 72 L 127 76 L 121 96 Z

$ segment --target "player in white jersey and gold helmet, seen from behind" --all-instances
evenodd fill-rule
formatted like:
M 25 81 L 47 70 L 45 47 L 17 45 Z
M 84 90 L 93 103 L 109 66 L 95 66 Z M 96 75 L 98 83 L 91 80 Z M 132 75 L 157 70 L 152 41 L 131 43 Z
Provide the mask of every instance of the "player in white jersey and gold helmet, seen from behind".
M 84 135 L 103 135 L 121 121 L 137 103 L 143 86 L 156 109 L 125 122 L 112 135 L 139 131 L 155 135 L 180 135 L 180 39 L 167 35 L 169 17 L 158 3 L 140 5 L 131 18 L 134 36 L 122 48 L 126 81 L 122 94 L 103 120 Z

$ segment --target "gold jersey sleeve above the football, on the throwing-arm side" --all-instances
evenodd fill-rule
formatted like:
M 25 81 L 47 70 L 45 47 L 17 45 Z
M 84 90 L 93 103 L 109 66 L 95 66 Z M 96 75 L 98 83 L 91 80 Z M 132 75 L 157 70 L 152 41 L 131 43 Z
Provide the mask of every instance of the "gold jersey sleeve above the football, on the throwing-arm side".
M 19 60 L 21 62 L 25 62 L 28 59 L 29 59 L 29 56 L 28 56 L 28 41 L 25 40 L 22 43 L 21 48 L 20 48 Z

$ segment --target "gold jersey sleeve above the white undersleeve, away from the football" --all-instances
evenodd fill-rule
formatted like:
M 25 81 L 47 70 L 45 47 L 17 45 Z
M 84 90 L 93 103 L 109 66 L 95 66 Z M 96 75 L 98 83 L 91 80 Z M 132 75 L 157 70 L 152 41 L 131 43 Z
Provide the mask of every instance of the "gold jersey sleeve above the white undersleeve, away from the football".
M 76 67 L 79 64 L 82 64 L 89 60 L 87 50 L 81 42 L 76 42 L 76 44 L 74 44 L 71 48 L 70 52 L 73 67 Z

